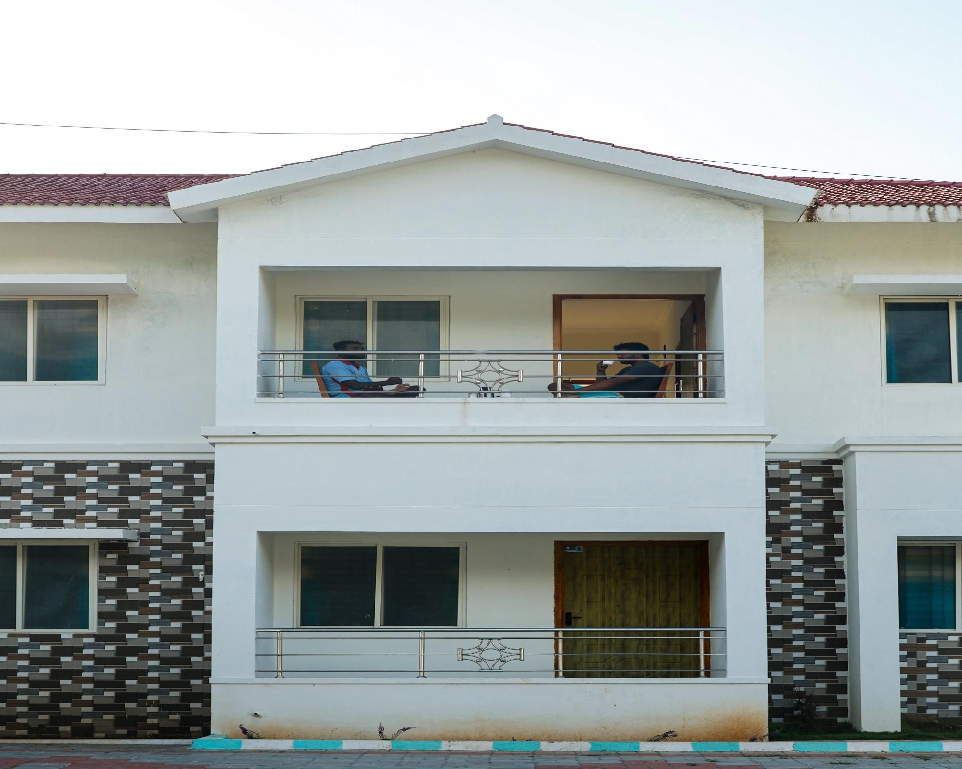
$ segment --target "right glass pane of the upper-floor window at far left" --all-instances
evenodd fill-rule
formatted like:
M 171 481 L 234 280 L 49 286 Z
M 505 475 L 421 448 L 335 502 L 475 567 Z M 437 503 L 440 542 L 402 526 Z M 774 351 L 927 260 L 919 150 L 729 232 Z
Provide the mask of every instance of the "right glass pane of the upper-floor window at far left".
M 34 304 L 34 378 L 38 382 L 96 382 L 97 301 L 44 299 Z

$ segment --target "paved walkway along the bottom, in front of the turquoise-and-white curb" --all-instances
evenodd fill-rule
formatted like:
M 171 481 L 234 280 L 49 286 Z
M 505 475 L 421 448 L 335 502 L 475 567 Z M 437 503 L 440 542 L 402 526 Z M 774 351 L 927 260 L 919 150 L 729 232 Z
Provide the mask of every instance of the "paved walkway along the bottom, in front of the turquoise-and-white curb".
M 331 753 L 191 751 L 164 746 L 0 745 L 0 769 L 962 769 L 962 755 L 752 756 L 544 753 Z

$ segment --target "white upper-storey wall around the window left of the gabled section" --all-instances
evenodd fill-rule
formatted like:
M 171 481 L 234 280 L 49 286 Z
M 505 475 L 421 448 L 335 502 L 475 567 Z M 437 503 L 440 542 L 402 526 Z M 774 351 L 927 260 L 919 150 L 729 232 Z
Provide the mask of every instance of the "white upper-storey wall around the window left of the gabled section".
M 0 224 L 0 273 L 126 273 L 138 286 L 108 299 L 106 384 L 0 383 L 2 449 L 209 451 L 215 249 L 210 225 Z

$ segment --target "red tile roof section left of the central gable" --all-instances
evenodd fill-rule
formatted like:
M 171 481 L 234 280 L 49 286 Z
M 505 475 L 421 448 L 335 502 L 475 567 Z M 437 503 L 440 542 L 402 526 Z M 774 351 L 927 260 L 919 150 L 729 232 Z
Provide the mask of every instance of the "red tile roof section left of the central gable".
M 166 192 L 231 174 L 0 174 L 0 206 L 168 206 Z

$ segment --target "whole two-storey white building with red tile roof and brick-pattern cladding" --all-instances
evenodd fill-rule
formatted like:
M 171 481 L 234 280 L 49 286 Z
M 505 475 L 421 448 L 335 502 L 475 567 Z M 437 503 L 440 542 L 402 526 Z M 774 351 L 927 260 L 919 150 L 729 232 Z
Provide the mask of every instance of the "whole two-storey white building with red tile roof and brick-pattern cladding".
M 962 185 L 494 115 L 0 201 L 5 735 L 962 719 Z

